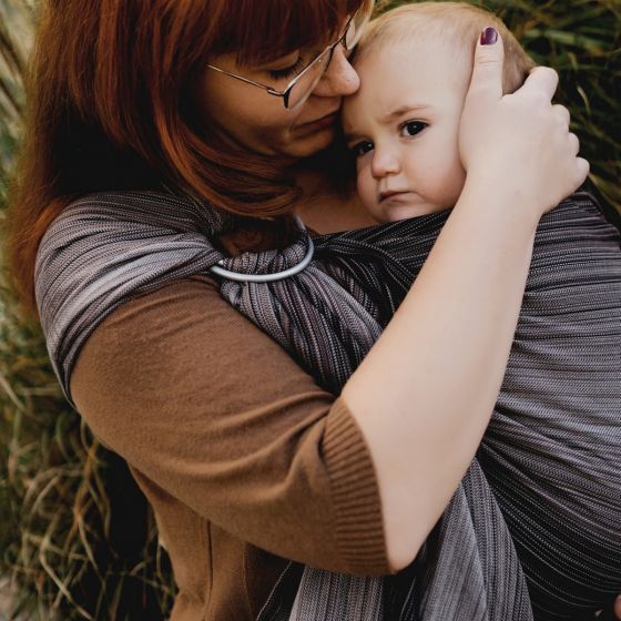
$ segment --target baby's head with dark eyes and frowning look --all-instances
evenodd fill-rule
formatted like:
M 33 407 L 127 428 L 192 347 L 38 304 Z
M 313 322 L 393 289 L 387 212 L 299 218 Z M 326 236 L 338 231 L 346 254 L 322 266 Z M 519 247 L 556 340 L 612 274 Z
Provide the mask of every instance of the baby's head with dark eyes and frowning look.
M 345 100 L 343 129 L 356 157 L 358 194 L 378 222 L 452 207 L 466 173 L 458 130 L 477 37 L 493 26 L 505 44 L 503 92 L 533 67 L 495 16 L 456 2 L 420 2 L 374 20 L 356 50 L 360 89 Z

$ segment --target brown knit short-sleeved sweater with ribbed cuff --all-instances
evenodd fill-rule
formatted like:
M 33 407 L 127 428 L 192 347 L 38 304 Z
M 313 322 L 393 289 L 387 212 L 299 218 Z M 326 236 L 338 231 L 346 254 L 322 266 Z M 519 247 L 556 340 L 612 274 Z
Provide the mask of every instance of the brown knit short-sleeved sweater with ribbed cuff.
M 172 621 L 254 619 L 284 559 L 388 572 L 375 471 L 350 413 L 211 279 L 112 313 L 71 389 L 155 510 L 180 588 Z

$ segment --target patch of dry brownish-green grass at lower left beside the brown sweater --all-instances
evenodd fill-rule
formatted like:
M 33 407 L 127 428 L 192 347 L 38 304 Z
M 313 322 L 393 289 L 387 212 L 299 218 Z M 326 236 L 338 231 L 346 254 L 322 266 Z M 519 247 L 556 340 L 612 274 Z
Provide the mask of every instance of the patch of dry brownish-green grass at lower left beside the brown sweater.
M 28 619 L 162 619 L 174 594 L 124 462 L 67 406 L 38 326 L 0 306 L 0 574 Z

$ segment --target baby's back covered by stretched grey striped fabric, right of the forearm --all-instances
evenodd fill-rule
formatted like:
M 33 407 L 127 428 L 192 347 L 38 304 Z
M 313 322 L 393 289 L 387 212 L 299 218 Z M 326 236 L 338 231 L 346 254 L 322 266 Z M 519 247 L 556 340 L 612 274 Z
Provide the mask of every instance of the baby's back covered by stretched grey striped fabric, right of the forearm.
M 587 194 L 540 223 L 479 460 L 538 618 L 569 618 L 598 591 L 619 590 L 621 248 Z

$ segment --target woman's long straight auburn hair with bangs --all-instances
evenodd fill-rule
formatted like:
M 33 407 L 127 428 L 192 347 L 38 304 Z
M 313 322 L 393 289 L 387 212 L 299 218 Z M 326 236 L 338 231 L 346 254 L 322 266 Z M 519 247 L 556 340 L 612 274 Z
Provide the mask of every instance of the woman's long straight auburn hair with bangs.
M 216 54 L 263 63 L 327 42 L 368 1 L 44 1 L 8 212 L 9 266 L 26 307 L 34 310 L 39 243 L 78 196 L 169 183 L 232 213 L 289 213 L 298 189 L 283 163 L 206 138 L 192 83 Z

